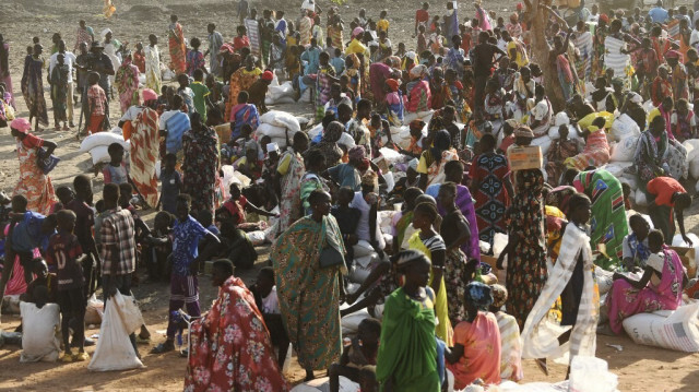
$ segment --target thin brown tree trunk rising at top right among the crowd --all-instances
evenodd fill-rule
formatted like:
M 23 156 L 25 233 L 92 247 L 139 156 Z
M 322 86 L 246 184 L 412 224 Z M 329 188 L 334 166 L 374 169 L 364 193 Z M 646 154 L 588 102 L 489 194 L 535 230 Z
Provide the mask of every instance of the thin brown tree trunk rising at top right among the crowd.
M 560 111 L 566 107 L 564 91 L 558 82 L 558 71 L 556 67 L 548 61 L 548 54 L 552 48 L 546 41 L 546 24 L 548 21 L 548 11 L 541 9 L 540 4 L 550 5 L 550 0 L 525 1 L 528 4 L 528 13 L 530 14 L 530 37 L 531 37 L 531 55 L 532 61 L 537 63 L 544 74 L 544 88 L 546 96 L 550 100 L 554 111 Z M 531 7 L 529 7 L 531 4 Z

